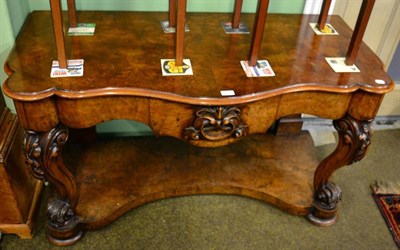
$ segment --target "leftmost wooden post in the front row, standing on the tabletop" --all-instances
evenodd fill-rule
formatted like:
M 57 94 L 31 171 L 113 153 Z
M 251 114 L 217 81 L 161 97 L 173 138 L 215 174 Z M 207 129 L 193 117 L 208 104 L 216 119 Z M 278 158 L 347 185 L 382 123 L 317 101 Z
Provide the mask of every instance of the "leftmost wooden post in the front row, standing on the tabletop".
M 61 69 L 66 69 L 68 67 L 68 63 L 65 52 L 61 0 L 50 0 L 50 7 L 51 7 L 51 17 L 53 19 L 53 28 L 56 40 L 58 63 Z

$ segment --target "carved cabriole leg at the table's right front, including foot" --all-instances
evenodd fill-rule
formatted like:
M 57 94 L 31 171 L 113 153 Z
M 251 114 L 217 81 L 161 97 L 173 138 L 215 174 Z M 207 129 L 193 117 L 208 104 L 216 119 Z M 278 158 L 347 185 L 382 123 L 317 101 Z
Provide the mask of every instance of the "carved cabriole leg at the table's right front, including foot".
M 342 191 L 329 181 L 339 168 L 361 160 L 371 143 L 371 121 L 358 121 L 350 115 L 333 122 L 339 135 L 336 150 L 325 158 L 314 175 L 314 210 L 308 219 L 320 226 L 329 226 L 336 221 L 337 204 Z

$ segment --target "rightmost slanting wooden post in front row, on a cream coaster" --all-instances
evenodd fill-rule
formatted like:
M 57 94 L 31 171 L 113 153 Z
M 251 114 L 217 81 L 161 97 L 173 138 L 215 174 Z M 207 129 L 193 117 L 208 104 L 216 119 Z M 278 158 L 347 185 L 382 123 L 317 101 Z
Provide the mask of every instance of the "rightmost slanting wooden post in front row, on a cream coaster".
M 354 28 L 353 36 L 351 37 L 349 49 L 347 50 L 346 65 L 353 65 L 356 61 L 358 50 L 360 49 L 362 38 L 364 36 L 369 17 L 371 16 L 372 9 L 374 7 L 375 0 L 363 0 L 360 13 L 356 26 Z

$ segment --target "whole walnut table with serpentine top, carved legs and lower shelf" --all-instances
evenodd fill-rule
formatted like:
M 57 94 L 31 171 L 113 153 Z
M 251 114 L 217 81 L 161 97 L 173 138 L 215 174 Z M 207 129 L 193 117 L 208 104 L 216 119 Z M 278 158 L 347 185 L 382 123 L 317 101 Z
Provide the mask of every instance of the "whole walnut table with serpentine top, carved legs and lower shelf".
M 160 28 L 167 13 L 79 12 L 79 20 L 96 23 L 96 33 L 65 38 L 67 57 L 85 60 L 84 76 L 69 78 L 49 77 L 59 53 L 51 12 L 28 16 L 3 90 L 25 129 L 27 165 L 55 186 L 51 243 L 73 244 L 134 207 L 192 194 L 248 196 L 318 225 L 336 220 L 341 191 L 330 177 L 364 157 L 392 80 L 364 43 L 354 63 L 360 72 L 335 73 L 325 57 L 345 56 L 353 31 L 329 16 L 339 35 L 317 36 L 309 25 L 317 15 L 292 14 L 268 14 L 265 23 L 259 57 L 275 76 L 248 78 L 240 61 L 254 38 L 225 34 L 220 22 L 230 16 L 188 13 L 183 54 L 194 74 L 163 77 L 160 59 L 176 56 L 175 34 Z M 241 16 L 246 23 L 255 18 Z M 307 132 L 267 133 L 279 119 L 302 113 L 332 119 L 338 131 L 336 150 L 322 162 Z M 113 119 L 147 124 L 156 137 L 94 142 L 67 164 L 69 128 Z

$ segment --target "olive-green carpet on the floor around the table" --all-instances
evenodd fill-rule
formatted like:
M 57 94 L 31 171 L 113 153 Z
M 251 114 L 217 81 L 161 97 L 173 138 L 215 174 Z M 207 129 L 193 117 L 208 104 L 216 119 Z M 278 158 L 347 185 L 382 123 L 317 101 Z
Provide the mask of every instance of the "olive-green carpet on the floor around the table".
M 318 147 L 319 159 L 335 146 Z M 253 199 L 201 195 L 134 209 L 67 249 L 397 249 L 370 185 L 399 180 L 399 167 L 400 130 L 374 132 L 366 158 L 333 178 L 343 199 L 339 220 L 331 227 L 314 226 Z M 1 249 L 55 249 L 45 239 L 44 207 L 42 202 L 32 240 L 4 235 Z

